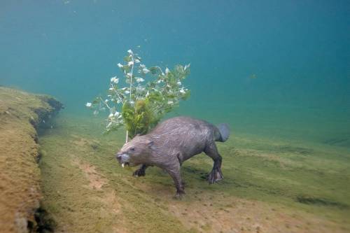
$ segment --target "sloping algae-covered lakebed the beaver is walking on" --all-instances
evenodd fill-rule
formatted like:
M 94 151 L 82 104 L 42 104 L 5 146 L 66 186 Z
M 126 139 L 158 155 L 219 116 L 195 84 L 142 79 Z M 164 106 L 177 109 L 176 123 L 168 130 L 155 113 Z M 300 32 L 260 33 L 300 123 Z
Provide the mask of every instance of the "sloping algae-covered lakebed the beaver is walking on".
M 218 143 L 224 180 L 209 185 L 212 161 L 197 155 L 176 200 L 161 169 L 134 178 L 118 165 L 124 132 L 104 135 L 101 122 L 62 114 L 41 131 L 42 206 L 56 232 L 350 231 L 349 148 L 233 134 Z

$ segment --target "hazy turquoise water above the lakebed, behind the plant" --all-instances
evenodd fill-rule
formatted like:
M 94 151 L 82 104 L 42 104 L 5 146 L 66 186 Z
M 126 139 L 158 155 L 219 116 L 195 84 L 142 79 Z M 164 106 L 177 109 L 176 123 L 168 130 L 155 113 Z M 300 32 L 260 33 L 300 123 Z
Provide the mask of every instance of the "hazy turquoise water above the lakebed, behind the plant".
M 191 63 L 192 94 L 174 115 L 350 148 L 349 10 L 349 1 L 1 1 L 0 85 L 92 117 L 85 103 L 139 45 L 146 64 Z

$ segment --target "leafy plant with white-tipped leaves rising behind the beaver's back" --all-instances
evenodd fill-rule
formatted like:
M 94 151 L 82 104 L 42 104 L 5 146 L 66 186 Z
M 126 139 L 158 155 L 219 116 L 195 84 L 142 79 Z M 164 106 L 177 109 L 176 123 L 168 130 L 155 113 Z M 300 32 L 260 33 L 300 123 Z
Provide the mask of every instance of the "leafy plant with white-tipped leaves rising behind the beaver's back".
M 117 76 L 112 77 L 107 97 L 98 96 L 86 106 L 94 110 L 94 115 L 108 109 L 106 132 L 125 126 L 127 142 L 137 134 L 146 134 L 181 99 L 190 96 L 190 90 L 183 86 L 190 64 L 176 65 L 173 70 L 165 68 L 163 72 L 160 66 L 147 67 L 132 50 L 127 50 L 124 61 L 117 66 L 123 72 L 125 85 Z

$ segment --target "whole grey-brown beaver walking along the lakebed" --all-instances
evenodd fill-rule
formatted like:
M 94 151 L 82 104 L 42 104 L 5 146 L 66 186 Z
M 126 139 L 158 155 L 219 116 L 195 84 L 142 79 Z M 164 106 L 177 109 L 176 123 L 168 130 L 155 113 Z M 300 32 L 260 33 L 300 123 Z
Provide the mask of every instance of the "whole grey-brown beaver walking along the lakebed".
M 189 117 L 169 118 L 160 122 L 150 133 L 137 135 L 125 143 L 116 159 L 122 167 L 141 164 L 133 176 L 145 176 L 146 168 L 150 166 L 164 169 L 174 180 L 176 197 L 181 197 L 185 194 L 180 174 L 181 164 L 194 155 L 204 152 L 214 160 L 213 169 L 207 176 L 209 183 L 223 179 L 223 159 L 215 142 L 224 142 L 229 136 L 230 129 L 225 123 L 215 126 Z

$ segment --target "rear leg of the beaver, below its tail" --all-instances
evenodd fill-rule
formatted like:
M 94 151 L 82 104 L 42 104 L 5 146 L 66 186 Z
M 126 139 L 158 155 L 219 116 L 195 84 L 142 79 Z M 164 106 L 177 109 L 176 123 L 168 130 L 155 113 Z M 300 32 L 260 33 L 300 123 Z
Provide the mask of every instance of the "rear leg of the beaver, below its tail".
M 204 150 L 209 157 L 214 160 L 214 166 L 211 172 L 208 174 L 207 181 L 209 183 L 215 183 L 221 181 L 223 179 L 223 173 L 221 172 L 221 162 L 223 158 L 218 153 L 218 148 L 216 148 L 216 144 L 213 141 Z

